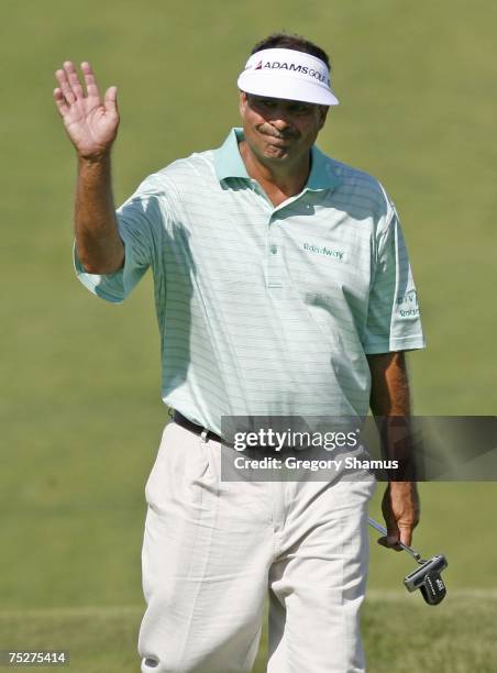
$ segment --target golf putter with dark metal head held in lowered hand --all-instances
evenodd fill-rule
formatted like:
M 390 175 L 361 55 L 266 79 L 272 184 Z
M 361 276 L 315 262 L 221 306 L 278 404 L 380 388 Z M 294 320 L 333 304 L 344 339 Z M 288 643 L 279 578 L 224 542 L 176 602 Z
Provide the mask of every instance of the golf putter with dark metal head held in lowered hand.
M 368 518 L 368 523 L 384 536 L 387 534 L 386 528 L 380 526 L 371 517 Z M 421 554 L 411 547 L 402 544 L 402 542 L 399 542 L 398 544 L 413 559 L 416 559 L 420 565 L 404 578 L 404 584 L 407 591 L 415 592 L 419 588 L 428 605 L 439 605 L 439 603 L 441 603 L 446 595 L 445 584 L 440 575 L 440 573 L 449 565 L 445 556 L 443 554 L 435 554 L 426 561 L 421 558 Z

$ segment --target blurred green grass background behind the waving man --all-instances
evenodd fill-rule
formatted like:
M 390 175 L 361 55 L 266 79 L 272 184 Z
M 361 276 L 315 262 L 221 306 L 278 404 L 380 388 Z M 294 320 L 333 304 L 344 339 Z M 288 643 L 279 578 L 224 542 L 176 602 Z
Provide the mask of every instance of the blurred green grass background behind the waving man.
M 490 0 L 1 5 L 0 649 L 73 647 L 73 624 L 71 670 L 134 671 L 143 488 L 167 421 L 152 284 L 113 307 L 74 276 L 75 161 L 52 101 L 54 70 L 88 59 L 102 89 L 119 87 L 119 203 L 147 174 L 221 144 L 238 123 L 236 76 L 256 41 L 285 29 L 322 45 L 341 104 L 319 145 L 378 177 L 401 214 L 429 344 L 409 358 L 415 410 L 492 415 L 497 10 Z M 497 617 L 495 484 L 422 484 L 421 496 L 416 544 L 449 556 L 452 611 L 449 598 L 435 613 L 420 596 L 390 594 L 404 591 L 412 563 L 372 544 L 371 670 L 435 670 L 427 654 L 435 640 L 479 638 L 481 659 L 437 650 L 437 670 L 495 671 L 485 630 Z M 378 498 L 372 511 L 380 516 Z M 461 606 L 474 615 L 471 637 Z M 104 629 L 95 631 L 101 615 L 110 631 L 115 624 L 106 647 Z M 431 636 L 417 649 L 427 619 Z M 413 659 L 387 668 L 399 624 Z M 109 648 L 113 663 L 101 659 Z

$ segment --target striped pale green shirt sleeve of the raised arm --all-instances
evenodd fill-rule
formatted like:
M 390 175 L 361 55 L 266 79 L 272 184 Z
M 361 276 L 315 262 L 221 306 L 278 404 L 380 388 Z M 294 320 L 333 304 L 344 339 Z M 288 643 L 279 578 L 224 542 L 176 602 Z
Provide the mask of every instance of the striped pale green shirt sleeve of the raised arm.
M 112 304 L 121 304 L 153 263 L 164 219 L 167 218 L 162 189 L 156 176 L 151 176 L 115 211 L 119 234 L 124 243 L 122 268 L 112 274 L 89 274 L 74 245 L 76 275 L 93 295 Z

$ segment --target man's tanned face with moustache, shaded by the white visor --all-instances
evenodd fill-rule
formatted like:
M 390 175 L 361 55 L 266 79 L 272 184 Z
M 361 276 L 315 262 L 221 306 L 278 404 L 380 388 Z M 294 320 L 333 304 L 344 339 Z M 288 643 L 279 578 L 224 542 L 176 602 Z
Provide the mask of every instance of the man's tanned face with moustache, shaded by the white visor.
M 324 125 L 328 107 L 240 92 L 245 141 L 262 163 L 308 156 Z

